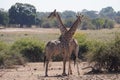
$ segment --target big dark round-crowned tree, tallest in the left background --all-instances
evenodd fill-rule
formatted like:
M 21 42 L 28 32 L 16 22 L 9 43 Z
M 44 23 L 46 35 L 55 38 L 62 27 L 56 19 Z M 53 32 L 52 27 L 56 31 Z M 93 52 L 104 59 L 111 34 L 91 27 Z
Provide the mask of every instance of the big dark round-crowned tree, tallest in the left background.
M 9 18 L 11 24 L 31 26 L 35 24 L 36 9 L 30 4 L 16 3 L 9 9 Z

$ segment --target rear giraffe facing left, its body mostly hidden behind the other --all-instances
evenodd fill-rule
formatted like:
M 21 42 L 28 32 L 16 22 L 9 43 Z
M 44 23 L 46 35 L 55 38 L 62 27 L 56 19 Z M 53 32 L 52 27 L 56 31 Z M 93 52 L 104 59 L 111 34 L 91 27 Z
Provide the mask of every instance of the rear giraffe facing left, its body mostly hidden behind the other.
M 64 33 L 66 33 L 68 30 L 66 28 L 66 26 L 63 24 L 60 15 L 58 14 L 58 12 L 56 12 L 56 9 L 50 13 L 50 15 L 48 16 L 48 18 L 54 18 L 56 17 L 56 19 L 58 20 L 59 23 L 59 28 L 60 28 L 60 32 L 61 32 L 61 36 L 64 35 Z M 79 51 L 79 45 L 76 39 L 72 39 L 71 40 L 71 50 L 73 53 L 75 53 L 75 56 L 78 60 L 78 51 Z M 70 54 L 71 55 L 71 54 Z M 75 61 L 74 61 L 75 64 Z M 79 73 L 79 69 L 78 69 L 78 64 L 77 64 L 77 71 L 78 71 L 78 75 Z

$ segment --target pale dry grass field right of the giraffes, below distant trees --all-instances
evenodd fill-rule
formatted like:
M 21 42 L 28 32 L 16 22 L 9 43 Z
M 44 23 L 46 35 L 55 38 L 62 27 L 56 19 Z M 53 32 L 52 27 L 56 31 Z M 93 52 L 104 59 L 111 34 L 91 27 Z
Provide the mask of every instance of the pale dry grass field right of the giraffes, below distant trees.
M 111 41 L 115 38 L 116 35 L 120 34 L 120 29 L 102 29 L 102 30 L 79 30 L 87 35 L 87 38 L 90 40 L 99 40 L 99 41 Z

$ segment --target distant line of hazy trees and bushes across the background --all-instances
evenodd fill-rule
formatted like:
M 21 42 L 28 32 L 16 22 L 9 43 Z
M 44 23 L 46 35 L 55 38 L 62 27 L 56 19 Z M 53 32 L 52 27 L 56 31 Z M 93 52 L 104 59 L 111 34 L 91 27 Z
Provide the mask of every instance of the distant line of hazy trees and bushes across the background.
M 116 12 L 112 7 L 102 8 L 99 12 L 84 9 L 80 13 L 87 18 L 82 21 L 80 29 L 113 28 L 115 23 L 120 24 L 120 11 Z M 0 9 L 0 25 L 20 28 L 32 25 L 42 28 L 57 27 L 57 20 L 47 18 L 49 14 L 50 12 L 37 12 L 31 4 L 16 3 L 8 11 Z M 76 19 L 74 11 L 66 10 L 59 14 L 67 27 L 71 27 Z

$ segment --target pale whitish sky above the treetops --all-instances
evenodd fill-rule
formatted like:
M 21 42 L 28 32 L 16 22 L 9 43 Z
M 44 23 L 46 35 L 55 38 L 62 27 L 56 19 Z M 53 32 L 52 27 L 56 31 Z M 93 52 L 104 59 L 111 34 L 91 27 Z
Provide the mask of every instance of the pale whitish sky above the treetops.
M 29 3 L 40 12 L 72 10 L 75 12 L 87 10 L 100 11 L 102 8 L 111 6 L 115 11 L 120 11 L 120 0 L 0 0 L 0 8 L 8 10 L 16 2 Z

